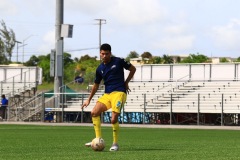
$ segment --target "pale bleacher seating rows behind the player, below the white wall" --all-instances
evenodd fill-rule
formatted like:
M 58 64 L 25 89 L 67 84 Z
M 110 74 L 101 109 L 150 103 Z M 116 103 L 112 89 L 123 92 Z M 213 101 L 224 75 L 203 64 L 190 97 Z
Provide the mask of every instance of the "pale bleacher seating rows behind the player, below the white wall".
M 123 113 L 194 113 L 194 114 L 238 114 L 240 82 L 130 82 L 131 89 Z M 90 112 L 101 90 L 84 110 Z M 68 105 L 79 108 L 82 102 Z M 155 117 L 156 118 L 156 117 Z M 206 123 L 206 122 L 205 122 Z

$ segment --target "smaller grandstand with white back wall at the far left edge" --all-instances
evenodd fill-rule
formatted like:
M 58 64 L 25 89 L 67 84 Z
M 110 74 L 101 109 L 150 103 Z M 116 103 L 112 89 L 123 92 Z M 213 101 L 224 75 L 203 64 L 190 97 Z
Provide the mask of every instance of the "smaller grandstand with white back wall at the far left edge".
M 8 119 L 17 120 L 28 99 L 34 97 L 42 83 L 42 69 L 25 66 L 0 66 L 0 94 L 9 100 Z

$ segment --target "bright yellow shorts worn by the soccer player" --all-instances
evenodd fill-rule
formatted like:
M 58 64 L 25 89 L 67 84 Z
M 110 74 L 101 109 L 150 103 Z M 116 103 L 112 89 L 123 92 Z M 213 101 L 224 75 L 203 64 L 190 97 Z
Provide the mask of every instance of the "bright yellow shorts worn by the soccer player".
M 112 92 L 104 93 L 104 95 L 98 99 L 98 102 L 105 104 L 107 109 L 112 108 L 113 112 L 120 113 L 122 107 L 126 102 L 126 99 L 127 99 L 126 93 Z

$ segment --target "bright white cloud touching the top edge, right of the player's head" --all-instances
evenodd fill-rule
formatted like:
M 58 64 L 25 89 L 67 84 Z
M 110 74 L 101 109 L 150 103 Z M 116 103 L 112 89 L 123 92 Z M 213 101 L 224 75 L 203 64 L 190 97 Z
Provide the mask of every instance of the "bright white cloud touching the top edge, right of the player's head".
M 166 16 L 157 0 L 118 0 L 108 12 L 121 24 L 134 26 L 157 23 Z

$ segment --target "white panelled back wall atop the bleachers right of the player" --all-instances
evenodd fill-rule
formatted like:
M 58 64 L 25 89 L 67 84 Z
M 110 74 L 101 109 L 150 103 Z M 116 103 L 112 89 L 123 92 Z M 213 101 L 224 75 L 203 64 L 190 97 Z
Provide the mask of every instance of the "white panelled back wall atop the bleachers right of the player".
M 133 81 L 239 80 L 239 63 L 136 65 Z M 128 75 L 128 71 L 125 71 Z M 125 78 L 126 78 L 125 76 Z

